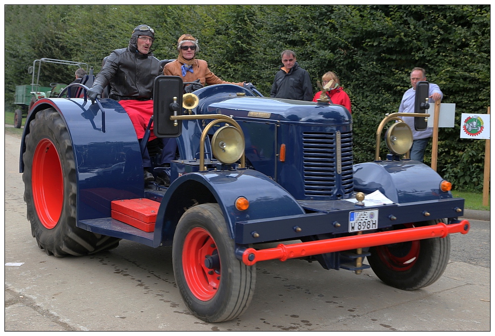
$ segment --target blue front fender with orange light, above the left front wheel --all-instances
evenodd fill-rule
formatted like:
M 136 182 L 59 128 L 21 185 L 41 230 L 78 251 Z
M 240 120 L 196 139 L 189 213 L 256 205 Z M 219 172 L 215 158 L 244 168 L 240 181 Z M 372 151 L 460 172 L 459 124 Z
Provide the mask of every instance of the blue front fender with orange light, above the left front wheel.
M 205 196 L 208 195 L 208 196 Z M 236 200 L 245 197 L 249 208 L 237 210 Z M 163 196 L 155 223 L 155 244 L 170 245 L 177 213 L 185 199 L 199 203 L 218 203 L 232 239 L 236 221 L 304 214 L 297 201 L 268 176 L 251 169 L 193 172 L 177 178 Z

